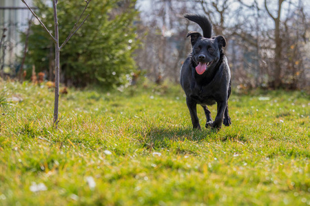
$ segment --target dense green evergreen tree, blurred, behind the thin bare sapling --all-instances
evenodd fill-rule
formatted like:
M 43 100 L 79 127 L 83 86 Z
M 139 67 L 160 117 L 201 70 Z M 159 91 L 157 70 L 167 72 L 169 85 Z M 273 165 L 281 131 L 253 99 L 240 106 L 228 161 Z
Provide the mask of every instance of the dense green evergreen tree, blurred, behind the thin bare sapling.
M 52 30 L 53 11 L 42 0 L 35 0 L 38 16 Z M 135 70 L 132 53 L 138 46 L 134 20 L 138 14 L 136 1 L 92 0 L 87 24 L 76 32 L 61 50 L 61 82 L 68 86 L 85 87 L 87 84 L 104 86 L 128 82 Z M 83 1 L 59 1 L 59 41 L 65 38 L 83 10 Z M 25 38 L 25 34 L 23 34 Z M 54 43 L 41 25 L 34 21 L 28 43 L 25 64 L 35 65 L 37 72 L 52 75 L 52 47 Z M 50 72 L 48 72 L 50 71 Z M 28 72 L 30 73 L 30 72 Z M 49 77 L 50 79 L 54 79 Z

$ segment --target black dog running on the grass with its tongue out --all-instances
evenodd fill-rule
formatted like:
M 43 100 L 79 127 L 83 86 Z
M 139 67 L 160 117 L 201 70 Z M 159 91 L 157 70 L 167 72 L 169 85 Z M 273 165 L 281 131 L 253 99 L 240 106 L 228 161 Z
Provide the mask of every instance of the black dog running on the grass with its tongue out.
M 196 105 L 203 106 L 208 128 L 220 128 L 231 124 L 228 114 L 228 98 L 231 93 L 231 76 L 227 58 L 223 53 L 226 41 L 223 36 L 211 37 L 211 23 L 207 16 L 185 14 L 185 18 L 194 21 L 203 29 L 203 36 L 198 32 L 189 32 L 192 52 L 180 70 L 180 84 L 186 94 L 186 103 L 192 118 L 193 128 L 200 129 Z M 217 103 L 218 113 L 214 121 L 207 105 Z

